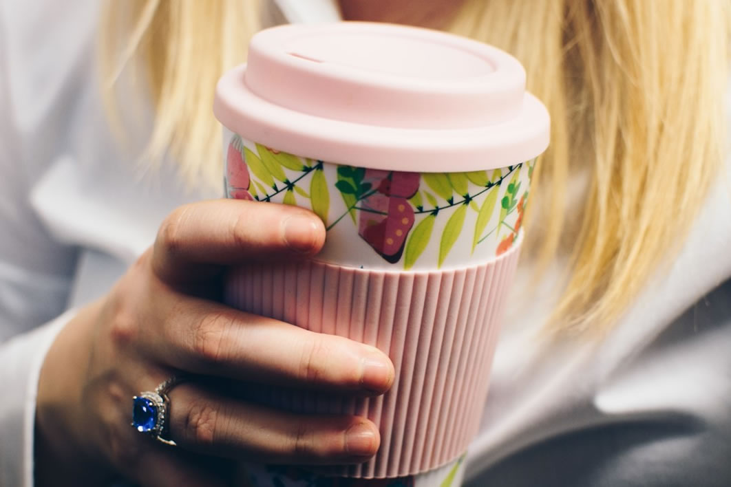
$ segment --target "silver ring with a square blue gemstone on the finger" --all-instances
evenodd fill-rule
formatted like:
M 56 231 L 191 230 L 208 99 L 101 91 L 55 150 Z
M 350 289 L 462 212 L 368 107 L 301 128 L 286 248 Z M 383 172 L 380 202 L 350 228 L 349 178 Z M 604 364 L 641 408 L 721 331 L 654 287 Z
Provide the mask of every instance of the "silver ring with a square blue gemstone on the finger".
M 173 440 L 164 438 L 168 433 L 168 410 L 170 398 L 167 393 L 178 384 L 188 380 L 183 375 L 173 375 L 154 391 L 143 391 L 132 397 L 132 427 L 140 433 L 149 434 L 165 445 L 177 446 Z

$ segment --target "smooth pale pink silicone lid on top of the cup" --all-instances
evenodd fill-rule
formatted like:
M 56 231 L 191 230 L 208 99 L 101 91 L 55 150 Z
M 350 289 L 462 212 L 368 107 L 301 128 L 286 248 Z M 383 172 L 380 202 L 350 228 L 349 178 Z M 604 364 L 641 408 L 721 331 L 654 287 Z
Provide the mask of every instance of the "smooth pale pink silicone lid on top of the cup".
M 278 150 L 353 166 L 463 172 L 527 161 L 549 117 L 525 70 L 480 42 L 424 28 L 341 22 L 256 34 L 221 77 L 213 112 Z

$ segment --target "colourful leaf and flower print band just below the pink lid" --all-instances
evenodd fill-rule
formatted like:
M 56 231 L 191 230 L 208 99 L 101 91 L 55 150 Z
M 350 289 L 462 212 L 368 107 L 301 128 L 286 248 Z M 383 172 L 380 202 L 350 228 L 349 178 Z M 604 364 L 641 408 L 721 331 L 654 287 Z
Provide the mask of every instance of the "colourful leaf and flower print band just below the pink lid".
M 439 239 L 433 264 L 441 267 L 463 232 L 471 234 L 473 253 L 488 237 L 498 242 L 493 256 L 510 250 L 520 235 L 535 164 L 444 173 L 332 164 L 336 180 L 329 181 L 325 166 L 330 163 L 254 147 L 232 135 L 226 158 L 228 197 L 308 207 L 327 231 L 350 219 L 375 253 L 404 269 L 423 258 L 432 239 Z M 330 215 L 333 198 L 344 204 L 336 215 Z M 470 213 L 472 218 L 467 218 Z M 443 224 L 437 225 L 437 219 Z

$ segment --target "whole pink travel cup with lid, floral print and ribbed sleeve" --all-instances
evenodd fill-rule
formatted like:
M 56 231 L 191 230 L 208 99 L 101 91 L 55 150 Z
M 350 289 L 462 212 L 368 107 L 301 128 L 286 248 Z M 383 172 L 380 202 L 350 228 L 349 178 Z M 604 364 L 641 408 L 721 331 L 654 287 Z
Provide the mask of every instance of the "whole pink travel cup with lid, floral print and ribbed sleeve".
M 327 228 L 311 261 L 233 270 L 227 303 L 374 345 L 396 369 L 376 399 L 257 389 L 274 407 L 379 425 L 374 459 L 319 475 L 458 483 L 548 146 L 525 77 L 494 47 L 374 23 L 267 29 L 221 77 L 227 196 L 306 207 Z

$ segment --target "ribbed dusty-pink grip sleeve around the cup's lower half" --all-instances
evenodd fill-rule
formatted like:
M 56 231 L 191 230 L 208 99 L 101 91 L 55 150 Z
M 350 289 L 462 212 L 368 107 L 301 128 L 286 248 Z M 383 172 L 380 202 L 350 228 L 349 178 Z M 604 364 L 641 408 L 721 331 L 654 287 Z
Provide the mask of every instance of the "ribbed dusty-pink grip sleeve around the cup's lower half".
M 381 448 L 374 459 L 332 467 L 327 475 L 393 478 L 457 459 L 480 423 L 519 247 L 485 264 L 432 272 L 317 261 L 235 269 L 228 304 L 374 345 L 396 370 L 393 387 L 377 398 L 266 386 L 254 398 L 298 413 L 364 415 L 379 425 Z

